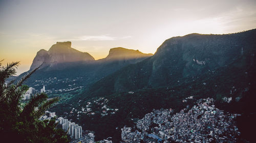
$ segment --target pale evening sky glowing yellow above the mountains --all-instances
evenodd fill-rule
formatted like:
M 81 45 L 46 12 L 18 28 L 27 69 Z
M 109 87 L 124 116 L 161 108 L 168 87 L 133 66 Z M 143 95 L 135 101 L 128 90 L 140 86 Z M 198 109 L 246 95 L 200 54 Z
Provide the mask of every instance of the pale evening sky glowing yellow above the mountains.
M 255 0 L 0 0 L 0 60 L 20 61 L 20 74 L 58 41 L 101 59 L 114 47 L 155 53 L 171 37 L 253 28 Z

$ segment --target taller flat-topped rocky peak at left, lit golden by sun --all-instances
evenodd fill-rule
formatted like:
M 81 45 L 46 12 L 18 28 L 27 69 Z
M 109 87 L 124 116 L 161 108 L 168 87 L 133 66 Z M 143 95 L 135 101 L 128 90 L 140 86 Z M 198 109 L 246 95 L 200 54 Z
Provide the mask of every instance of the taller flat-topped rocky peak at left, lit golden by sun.
M 41 49 L 37 52 L 30 70 L 40 65 L 42 65 L 41 68 L 44 68 L 46 66 L 52 67 L 60 63 L 80 61 L 94 61 L 94 58 L 87 52 L 81 52 L 72 48 L 71 42 L 57 42 L 52 45 L 48 51 Z

